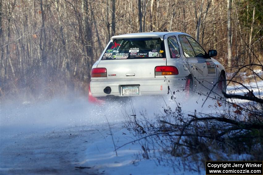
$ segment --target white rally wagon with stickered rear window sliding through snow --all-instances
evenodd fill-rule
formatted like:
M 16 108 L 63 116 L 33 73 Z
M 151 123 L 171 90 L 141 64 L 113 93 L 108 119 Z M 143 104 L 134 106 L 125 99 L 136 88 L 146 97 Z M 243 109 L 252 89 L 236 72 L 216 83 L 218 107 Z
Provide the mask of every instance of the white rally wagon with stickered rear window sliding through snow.
M 89 96 L 162 95 L 167 83 L 186 93 L 214 85 L 226 91 L 225 68 L 216 55 L 181 32 L 113 36 L 92 67 Z

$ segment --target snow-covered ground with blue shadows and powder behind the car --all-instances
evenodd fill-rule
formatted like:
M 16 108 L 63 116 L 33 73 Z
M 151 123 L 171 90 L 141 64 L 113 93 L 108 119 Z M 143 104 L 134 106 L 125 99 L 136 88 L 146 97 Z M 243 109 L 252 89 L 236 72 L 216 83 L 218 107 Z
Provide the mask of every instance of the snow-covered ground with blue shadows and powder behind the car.
M 261 89 L 262 86 L 260 82 Z M 228 89 L 233 92 L 232 87 Z M 236 93 L 241 91 L 245 92 L 240 88 Z M 178 93 L 178 99 L 183 98 Z M 165 98 L 166 103 L 175 106 L 168 99 Z M 137 117 L 147 110 L 148 117 L 155 119 L 154 114 L 162 112 L 165 106 L 164 99 L 157 97 L 139 97 L 132 102 L 95 105 L 86 98 L 75 97 L 36 104 L 1 104 L 0 174 L 174 174 L 171 167 L 138 156 L 142 149 L 137 142 L 119 148 L 136 139 L 123 127 L 125 112 L 133 114 L 133 106 Z M 181 101 L 182 109 L 213 110 L 207 106 L 214 101 L 201 108 L 202 102 L 200 97 Z M 112 137 L 119 148 L 118 156 Z M 192 174 L 178 170 L 176 173 Z

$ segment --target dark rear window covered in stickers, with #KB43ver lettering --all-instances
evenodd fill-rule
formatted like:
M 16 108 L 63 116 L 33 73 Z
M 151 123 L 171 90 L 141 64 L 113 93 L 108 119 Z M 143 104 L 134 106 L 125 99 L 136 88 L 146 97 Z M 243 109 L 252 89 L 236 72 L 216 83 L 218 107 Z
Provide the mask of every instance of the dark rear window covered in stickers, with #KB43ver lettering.
M 160 38 L 134 38 L 114 40 L 101 60 L 165 58 Z

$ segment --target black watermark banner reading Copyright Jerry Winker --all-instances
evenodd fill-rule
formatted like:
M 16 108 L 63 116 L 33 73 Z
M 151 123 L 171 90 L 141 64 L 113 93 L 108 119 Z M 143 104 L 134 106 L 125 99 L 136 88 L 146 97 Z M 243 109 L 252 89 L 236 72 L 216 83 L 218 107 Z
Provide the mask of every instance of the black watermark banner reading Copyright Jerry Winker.
M 263 161 L 206 161 L 206 175 L 263 175 Z

